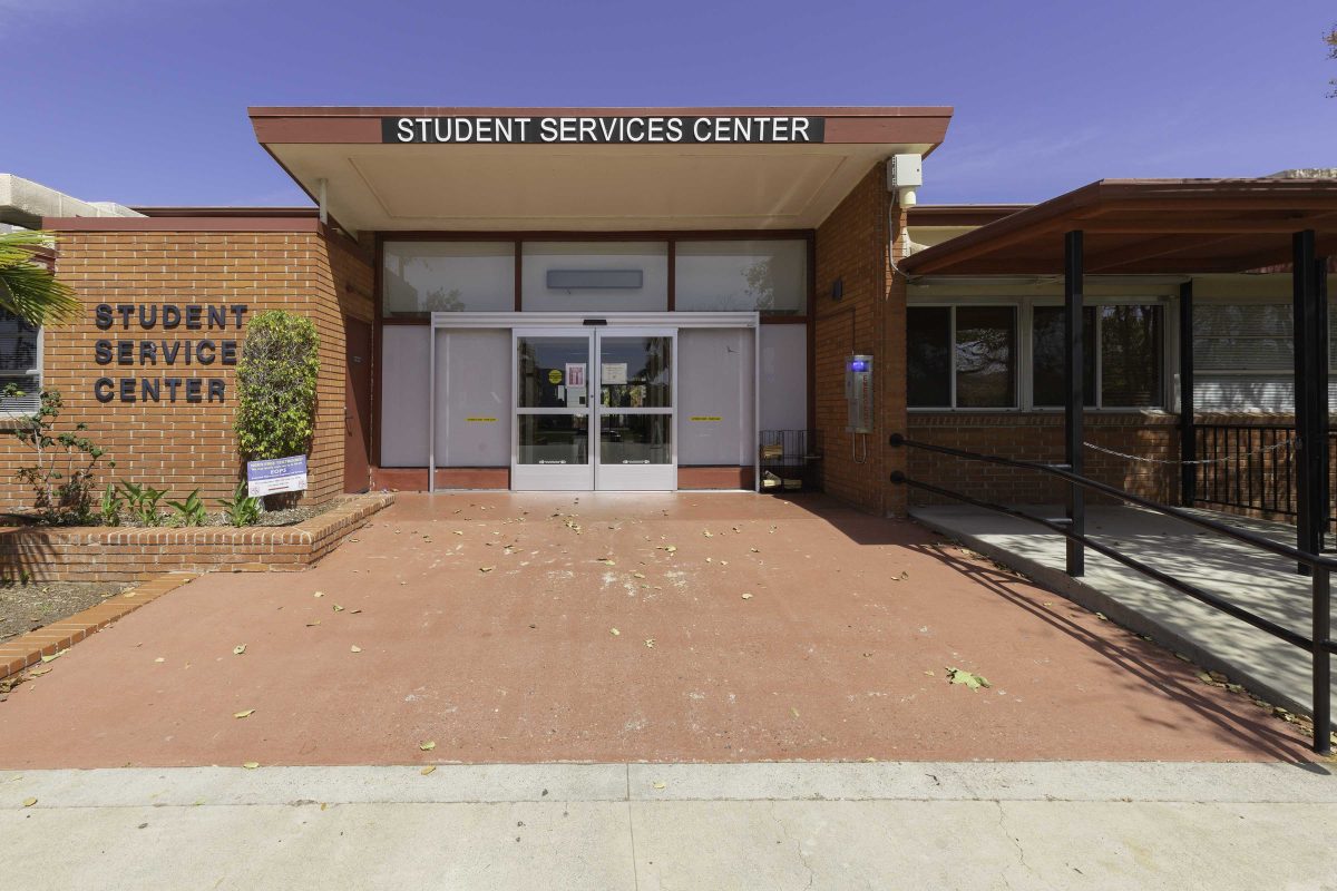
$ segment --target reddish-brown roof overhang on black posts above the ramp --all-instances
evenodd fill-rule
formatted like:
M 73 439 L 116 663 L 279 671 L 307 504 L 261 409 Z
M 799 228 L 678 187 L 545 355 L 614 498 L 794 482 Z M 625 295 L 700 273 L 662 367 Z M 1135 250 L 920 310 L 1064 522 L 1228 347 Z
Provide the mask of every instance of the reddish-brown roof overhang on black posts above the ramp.
M 1063 271 L 1063 235 L 1084 232 L 1086 273 L 1243 273 L 1289 263 L 1314 230 L 1337 254 L 1337 180 L 1103 179 L 901 260 L 908 275 Z

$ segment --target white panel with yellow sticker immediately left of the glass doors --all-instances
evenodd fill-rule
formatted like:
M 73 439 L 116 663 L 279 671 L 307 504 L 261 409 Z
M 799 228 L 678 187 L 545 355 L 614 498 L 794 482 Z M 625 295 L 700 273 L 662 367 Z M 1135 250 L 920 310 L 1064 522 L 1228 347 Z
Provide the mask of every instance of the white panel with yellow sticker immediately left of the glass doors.
M 436 334 L 436 466 L 511 464 L 511 331 Z

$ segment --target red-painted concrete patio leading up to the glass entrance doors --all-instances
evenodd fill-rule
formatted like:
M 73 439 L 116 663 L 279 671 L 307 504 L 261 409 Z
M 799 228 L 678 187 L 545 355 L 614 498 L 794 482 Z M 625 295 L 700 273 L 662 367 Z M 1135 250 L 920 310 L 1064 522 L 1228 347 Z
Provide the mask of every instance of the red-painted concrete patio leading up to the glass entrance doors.
M 824 498 L 400 496 L 314 569 L 206 576 L 51 665 L 0 703 L 0 768 L 1308 757 L 1173 653 Z

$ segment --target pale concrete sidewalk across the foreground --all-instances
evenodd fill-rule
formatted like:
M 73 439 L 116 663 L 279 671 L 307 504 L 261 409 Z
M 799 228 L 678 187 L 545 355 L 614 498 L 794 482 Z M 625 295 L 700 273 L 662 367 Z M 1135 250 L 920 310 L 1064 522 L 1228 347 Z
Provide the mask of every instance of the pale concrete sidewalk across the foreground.
M 1325 888 L 1334 819 L 1317 764 L 0 773 L 21 888 Z

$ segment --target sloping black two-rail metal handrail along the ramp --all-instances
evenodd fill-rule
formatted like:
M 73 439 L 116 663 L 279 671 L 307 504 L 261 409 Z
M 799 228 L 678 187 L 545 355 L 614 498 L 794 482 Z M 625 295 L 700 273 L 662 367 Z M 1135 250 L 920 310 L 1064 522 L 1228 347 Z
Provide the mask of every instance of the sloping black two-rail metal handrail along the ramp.
M 1169 573 L 1159 569 L 1148 566 L 1147 564 L 1124 554 L 1123 552 L 1112 548 L 1107 544 L 1095 541 L 1086 534 L 1080 534 L 1068 528 L 1064 521 L 1044 520 L 1043 517 L 1036 517 L 1015 508 L 1007 508 L 1004 505 L 992 504 L 988 501 L 981 501 L 980 498 L 973 498 L 960 492 L 953 492 L 951 489 L 944 489 L 943 486 L 936 486 L 920 480 L 912 480 L 900 470 L 892 473 L 892 482 L 902 484 L 913 489 L 920 489 L 944 498 L 952 498 L 963 504 L 972 505 L 975 508 L 981 508 L 984 510 L 992 510 L 995 513 L 1001 513 L 1009 517 L 1017 517 L 1019 520 L 1025 520 L 1036 525 L 1044 526 L 1051 532 L 1064 536 L 1070 542 L 1076 542 L 1080 546 L 1090 548 L 1098 554 L 1103 554 L 1115 562 L 1119 562 L 1154 581 L 1166 585 L 1173 590 L 1187 594 L 1194 600 L 1211 606 L 1219 612 L 1238 618 L 1249 625 L 1265 632 L 1277 640 L 1282 640 L 1293 647 L 1298 647 L 1310 653 L 1312 657 L 1312 705 L 1313 705 L 1313 719 L 1314 719 L 1314 737 L 1313 749 L 1320 755 L 1329 755 L 1332 752 L 1332 655 L 1337 652 L 1337 641 L 1333 641 L 1332 635 L 1332 570 L 1337 569 L 1337 560 L 1332 557 L 1324 557 L 1322 554 L 1314 554 L 1305 550 L 1298 550 L 1290 545 L 1284 545 L 1270 538 L 1263 538 L 1262 536 L 1246 532 L 1243 529 L 1235 529 L 1234 526 L 1227 526 L 1225 524 L 1217 522 L 1214 520 L 1207 520 L 1195 513 L 1171 508 L 1170 505 L 1163 505 L 1148 498 L 1142 498 L 1139 496 L 1131 494 L 1115 486 L 1090 480 L 1087 477 L 1078 476 L 1067 469 L 1066 465 L 1050 465 L 1038 464 L 1034 461 L 1019 461 L 1016 458 L 1004 458 L 1000 456 L 980 454 L 976 452 L 964 452 L 961 449 L 951 449 L 948 446 L 935 445 L 932 442 L 917 442 L 915 439 L 906 439 L 904 435 L 896 433 L 890 437 L 890 445 L 905 446 L 910 449 L 923 449 L 925 452 L 936 452 L 939 454 L 951 456 L 955 458 L 961 458 L 965 461 L 979 461 L 984 464 L 1001 465 L 1004 468 L 1015 468 L 1020 470 L 1035 470 L 1052 477 L 1058 477 L 1068 482 L 1072 486 L 1078 486 L 1087 492 L 1095 492 L 1111 498 L 1118 498 L 1139 508 L 1146 508 L 1147 510 L 1154 510 L 1166 517 L 1173 517 L 1182 522 L 1206 529 L 1209 532 L 1225 536 L 1226 538 L 1233 538 L 1238 542 L 1257 548 L 1266 553 L 1274 554 L 1277 557 L 1284 557 L 1296 561 L 1298 565 L 1308 569 L 1310 574 L 1310 592 L 1312 592 L 1312 628 L 1310 635 L 1300 635 L 1284 625 L 1280 625 L 1269 618 L 1253 613 L 1237 604 L 1227 601 L 1219 594 L 1203 590 L 1197 585 L 1191 585 L 1183 580 L 1175 578 Z

